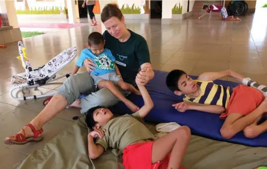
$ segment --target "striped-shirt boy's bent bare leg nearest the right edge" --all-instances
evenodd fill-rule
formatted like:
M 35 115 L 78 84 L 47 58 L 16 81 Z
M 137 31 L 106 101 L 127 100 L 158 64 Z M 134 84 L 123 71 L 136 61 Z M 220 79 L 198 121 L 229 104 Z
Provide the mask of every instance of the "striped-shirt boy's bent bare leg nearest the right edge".
M 262 124 L 258 125 L 258 122 L 261 120 L 261 118 L 262 116 L 260 116 L 254 123 L 244 129 L 244 135 L 246 137 L 255 138 L 267 131 L 267 120 Z

